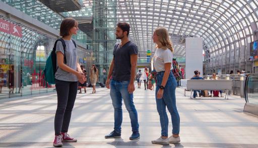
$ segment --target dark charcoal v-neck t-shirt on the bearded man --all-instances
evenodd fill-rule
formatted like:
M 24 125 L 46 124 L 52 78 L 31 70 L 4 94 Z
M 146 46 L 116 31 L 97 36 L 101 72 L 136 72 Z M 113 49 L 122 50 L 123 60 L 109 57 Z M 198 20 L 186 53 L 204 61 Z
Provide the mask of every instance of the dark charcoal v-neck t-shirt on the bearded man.
M 112 79 L 116 81 L 130 81 L 131 79 L 131 55 L 138 54 L 137 46 L 129 41 L 122 47 L 118 44 L 114 47 L 114 69 Z M 117 47 L 117 48 L 116 48 Z

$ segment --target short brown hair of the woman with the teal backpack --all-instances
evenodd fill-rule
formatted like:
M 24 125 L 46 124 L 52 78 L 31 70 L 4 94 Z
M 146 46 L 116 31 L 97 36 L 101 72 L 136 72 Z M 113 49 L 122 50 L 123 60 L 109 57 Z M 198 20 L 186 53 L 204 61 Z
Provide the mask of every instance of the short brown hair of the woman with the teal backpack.
M 60 36 L 66 37 L 70 35 L 70 30 L 77 25 L 77 21 L 74 18 L 66 18 L 62 20 L 60 26 Z

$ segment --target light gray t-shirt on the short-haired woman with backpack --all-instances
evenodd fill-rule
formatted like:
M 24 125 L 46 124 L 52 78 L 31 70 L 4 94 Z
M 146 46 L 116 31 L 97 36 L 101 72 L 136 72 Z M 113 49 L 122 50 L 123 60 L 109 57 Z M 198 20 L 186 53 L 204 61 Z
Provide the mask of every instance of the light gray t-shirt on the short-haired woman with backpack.
M 66 58 L 67 58 L 66 65 L 74 70 L 77 70 L 77 49 L 72 40 L 64 40 L 64 42 L 66 43 Z M 60 51 L 63 54 L 63 46 L 61 41 L 57 41 L 56 43 L 55 53 L 58 51 Z M 56 67 L 57 67 L 57 61 L 56 61 Z M 57 71 L 55 73 L 55 79 L 61 80 L 61 81 L 70 81 L 70 82 L 78 81 L 78 78 L 75 74 L 66 72 L 59 67 L 57 68 Z

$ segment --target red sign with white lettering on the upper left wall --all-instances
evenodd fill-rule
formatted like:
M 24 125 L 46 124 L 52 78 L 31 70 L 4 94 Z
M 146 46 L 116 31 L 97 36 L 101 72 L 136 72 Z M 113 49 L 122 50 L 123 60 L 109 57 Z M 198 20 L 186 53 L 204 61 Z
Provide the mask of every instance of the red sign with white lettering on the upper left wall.
M 22 27 L 15 25 L 11 22 L 0 19 L 0 31 L 17 36 L 22 37 Z

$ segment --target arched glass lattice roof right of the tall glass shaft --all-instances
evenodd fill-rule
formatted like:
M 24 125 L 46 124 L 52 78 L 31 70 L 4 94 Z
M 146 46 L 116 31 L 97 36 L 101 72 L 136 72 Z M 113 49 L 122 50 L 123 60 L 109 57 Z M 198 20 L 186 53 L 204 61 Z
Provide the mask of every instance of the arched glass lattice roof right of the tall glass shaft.
M 185 37 L 202 37 L 209 56 L 216 56 L 253 41 L 257 8 L 257 0 L 117 0 L 117 21 L 130 23 L 130 37 L 140 53 L 154 50 L 153 31 L 163 26 L 175 55 L 185 55 Z

